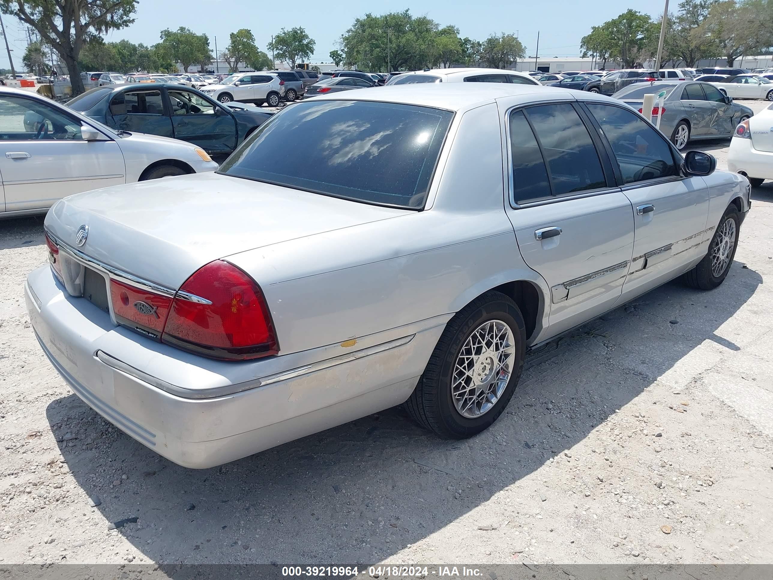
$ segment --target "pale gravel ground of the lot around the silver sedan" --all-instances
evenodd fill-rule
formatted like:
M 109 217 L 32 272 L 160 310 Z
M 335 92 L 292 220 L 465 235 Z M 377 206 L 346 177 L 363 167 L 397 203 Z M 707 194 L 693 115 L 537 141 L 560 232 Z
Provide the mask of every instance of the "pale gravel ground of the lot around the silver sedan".
M 721 169 L 727 145 L 700 148 Z M 773 183 L 752 197 L 724 285 L 533 353 L 475 438 L 392 409 L 203 471 L 71 394 L 24 309 L 43 218 L 2 221 L 0 561 L 770 563 Z

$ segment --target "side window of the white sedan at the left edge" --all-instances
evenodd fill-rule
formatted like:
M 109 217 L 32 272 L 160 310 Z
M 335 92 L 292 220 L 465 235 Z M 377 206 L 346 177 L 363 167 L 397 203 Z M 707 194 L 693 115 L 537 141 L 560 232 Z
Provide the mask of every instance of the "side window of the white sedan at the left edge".
M 0 97 L 0 140 L 80 141 L 80 121 L 47 104 L 20 97 Z

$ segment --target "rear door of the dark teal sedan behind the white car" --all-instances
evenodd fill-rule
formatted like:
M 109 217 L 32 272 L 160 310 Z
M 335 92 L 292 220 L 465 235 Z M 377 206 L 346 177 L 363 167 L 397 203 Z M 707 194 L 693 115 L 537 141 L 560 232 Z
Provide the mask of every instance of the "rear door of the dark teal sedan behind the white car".
M 137 131 L 173 137 L 172 119 L 164 111 L 161 90 L 127 90 L 110 101 L 108 125 L 121 131 Z

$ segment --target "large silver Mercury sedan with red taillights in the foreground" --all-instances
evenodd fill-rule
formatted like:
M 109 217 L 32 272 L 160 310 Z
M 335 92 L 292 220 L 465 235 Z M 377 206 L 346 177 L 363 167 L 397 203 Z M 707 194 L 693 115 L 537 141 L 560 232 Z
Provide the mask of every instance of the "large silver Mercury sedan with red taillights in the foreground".
M 73 391 L 183 466 L 403 403 L 465 438 L 526 350 L 676 276 L 724 281 L 750 188 L 715 166 L 598 94 L 323 95 L 217 173 L 57 203 L 27 309 Z

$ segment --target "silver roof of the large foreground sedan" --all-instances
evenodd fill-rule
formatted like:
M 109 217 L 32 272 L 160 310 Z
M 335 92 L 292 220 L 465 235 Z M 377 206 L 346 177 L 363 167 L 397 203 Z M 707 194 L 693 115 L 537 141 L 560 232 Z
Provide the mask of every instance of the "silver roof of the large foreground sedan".
M 512 72 L 512 71 L 511 71 Z M 618 103 L 616 99 L 593 93 L 578 93 L 576 90 L 561 90 L 537 84 L 509 83 L 420 83 L 387 85 L 377 89 L 349 90 L 346 93 L 325 94 L 309 102 L 318 101 L 381 101 L 386 103 L 413 104 L 419 107 L 434 107 L 447 111 L 468 111 L 482 104 L 493 103 L 499 98 L 522 97 L 519 101 L 530 103 L 556 101 L 557 99 L 594 99 Z M 301 101 L 300 104 L 302 104 Z

